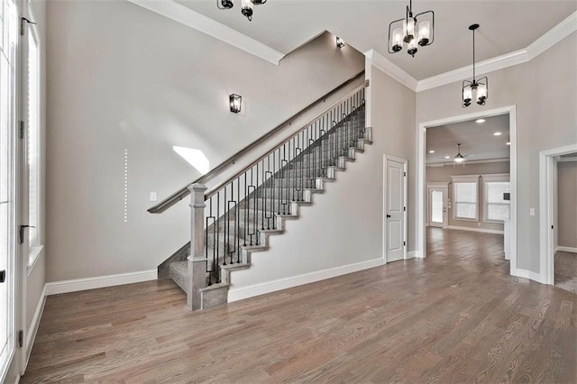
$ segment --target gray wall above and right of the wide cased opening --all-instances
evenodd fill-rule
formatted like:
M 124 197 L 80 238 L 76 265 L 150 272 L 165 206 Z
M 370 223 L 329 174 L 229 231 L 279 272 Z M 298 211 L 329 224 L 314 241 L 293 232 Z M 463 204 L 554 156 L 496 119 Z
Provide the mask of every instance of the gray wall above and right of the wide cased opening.
M 417 94 L 417 123 L 517 105 L 517 268 L 539 272 L 539 151 L 577 142 L 577 33 L 525 64 L 488 74 L 487 105 L 460 104 L 461 82 Z M 529 215 L 529 208 L 536 215 Z

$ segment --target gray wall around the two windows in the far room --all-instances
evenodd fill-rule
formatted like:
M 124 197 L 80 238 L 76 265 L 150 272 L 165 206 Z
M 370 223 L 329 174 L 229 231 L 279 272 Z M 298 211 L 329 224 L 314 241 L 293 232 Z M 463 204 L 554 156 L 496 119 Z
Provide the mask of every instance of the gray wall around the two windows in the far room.
M 453 201 L 453 183 L 451 176 L 458 175 L 483 175 L 491 173 L 508 173 L 509 163 L 508 161 L 503 162 L 490 162 L 490 163 L 467 163 L 463 167 L 462 165 L 445 165 L 443 167 L 426 167 L 426 182 L 447 182 L 449 184 L 449 199 Z M 483 205 L 485 204 L 485 197 L 483 193 L 483 179 L 479 178 L 479 190 L 477 191 L 477 196 L 479 197 L 479 222 L 471 222 L 468 220 L 455 220 L 453 218 L 453 206 L 448 210 L 449 212 L 449 225 L 460 226 L 466 228 L 476 228 L 476 229 L 488 229 L 492 231 L 503 231 L 503 224 L 499 223 L 487 223 L 483 221 Z M 428 201 L 426 199 L 426 201 Z M 428 209 L 428 208 L 427 208 Z M 427 211 L 428 212 L 428 211 Z

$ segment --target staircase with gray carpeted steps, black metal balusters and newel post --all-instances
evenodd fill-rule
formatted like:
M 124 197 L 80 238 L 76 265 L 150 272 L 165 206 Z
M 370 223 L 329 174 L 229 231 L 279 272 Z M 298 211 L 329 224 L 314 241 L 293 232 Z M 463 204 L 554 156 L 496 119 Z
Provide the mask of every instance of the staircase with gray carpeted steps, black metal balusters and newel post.
M 269 236 L 284 233 L 285 221 L 298 219 L 366 144 L 363 86 L 234 177 L 208 192 L 189 187 L 192 239 L 168 267 L 188 306 L 226 303 L 231 273 L 250 268 L 252 252 L 269 250 Z

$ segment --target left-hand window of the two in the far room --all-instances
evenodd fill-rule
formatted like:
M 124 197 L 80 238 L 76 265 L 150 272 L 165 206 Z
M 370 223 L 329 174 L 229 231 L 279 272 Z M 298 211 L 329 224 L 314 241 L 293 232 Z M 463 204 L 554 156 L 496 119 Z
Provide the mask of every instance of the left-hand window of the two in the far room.
M 458 220 L 479 220 L 477 190 L 479 176 L 452 176 L 453 217 Z

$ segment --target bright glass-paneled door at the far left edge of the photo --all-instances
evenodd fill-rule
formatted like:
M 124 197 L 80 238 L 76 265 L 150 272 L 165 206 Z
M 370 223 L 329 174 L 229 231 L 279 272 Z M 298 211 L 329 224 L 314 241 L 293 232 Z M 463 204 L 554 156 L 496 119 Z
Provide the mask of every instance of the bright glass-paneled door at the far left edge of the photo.
M 0 381 L 14 352 L 15 95 L 18 13 L 0 0 Z

